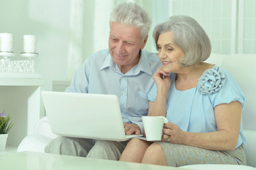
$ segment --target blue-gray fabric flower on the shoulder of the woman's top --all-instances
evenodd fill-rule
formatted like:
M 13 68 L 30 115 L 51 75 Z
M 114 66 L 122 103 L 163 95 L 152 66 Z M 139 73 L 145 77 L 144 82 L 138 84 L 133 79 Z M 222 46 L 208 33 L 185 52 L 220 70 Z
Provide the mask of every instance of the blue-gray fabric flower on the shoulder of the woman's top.
M 221 90 L 226 81 L 225 74 L 220 67 L 214 66 L 207 69 L 200 77 L 197 88 L 201 94 L 212 94 Z

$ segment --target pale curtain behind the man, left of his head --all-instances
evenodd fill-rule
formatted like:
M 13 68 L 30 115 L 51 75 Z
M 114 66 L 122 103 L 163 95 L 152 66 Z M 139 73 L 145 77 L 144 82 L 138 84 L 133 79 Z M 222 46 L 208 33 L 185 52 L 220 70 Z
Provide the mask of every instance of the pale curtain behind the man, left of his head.
M 108 19 L 114 0 L 69 0 L 67 79 L 92 53 L 108 47 Z

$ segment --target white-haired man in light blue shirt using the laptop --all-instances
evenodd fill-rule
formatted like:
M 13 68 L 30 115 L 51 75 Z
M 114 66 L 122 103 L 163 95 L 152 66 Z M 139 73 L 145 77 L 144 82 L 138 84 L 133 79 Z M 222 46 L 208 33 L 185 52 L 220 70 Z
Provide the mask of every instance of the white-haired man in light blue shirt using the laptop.
M 108 50 L 89 56 L 72 79 L 67 92 L 118 96 L 126 135 L 143 133 L 141 116 L 148 114 L 148 91 L 160 61 L 143 50 L 151 21 L 143 8 L 123 3 L 110 18 Z M 104 126 L 104 125 L 103 125 Z M 57 137 L 45 152 L 118 160 L 127 142 Z

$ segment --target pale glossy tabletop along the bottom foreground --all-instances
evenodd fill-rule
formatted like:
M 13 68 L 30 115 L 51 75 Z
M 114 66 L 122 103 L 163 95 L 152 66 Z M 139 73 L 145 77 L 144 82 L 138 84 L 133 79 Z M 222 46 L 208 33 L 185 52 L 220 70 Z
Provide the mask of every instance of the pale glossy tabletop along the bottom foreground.
M 105 159 L 91 159 L 85 157 L 72 157 L 59 154 L 44 154 L 39 152 L 17 152 L 0 154 L 1 169 L 26 169 L 26 170 L 182 170 L 181 168 L 169 166 L 157 166 L 148 164 L 137 164 L 130 162 L 118 162 Z

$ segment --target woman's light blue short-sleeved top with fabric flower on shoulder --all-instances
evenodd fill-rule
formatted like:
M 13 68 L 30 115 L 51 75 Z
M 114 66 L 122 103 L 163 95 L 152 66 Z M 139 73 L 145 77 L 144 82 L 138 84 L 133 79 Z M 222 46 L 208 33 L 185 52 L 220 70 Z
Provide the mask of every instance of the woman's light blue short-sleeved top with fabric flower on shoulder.
M 171 82 L 175 82 L 176 74 L 171 73 L 169 77 Z M 155 101 L 156 96 L 157 86 L 154 84 L 148 99 Z M 213 69 L 204 72 L 198 85 L 192 89 L 179 91 L 175 83 L 171 84 L 167 98 L 167 119 L 187 132 L 217 131 L 214 108 L 221 103 L 232 101 L 239 101 L 243 108 L 243 91 L 228 70 L 215 65 Z M 241 118 L 236 147 L 245 142 L 242 123 Z

